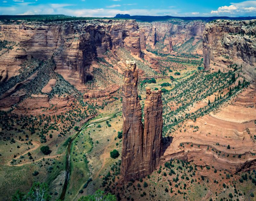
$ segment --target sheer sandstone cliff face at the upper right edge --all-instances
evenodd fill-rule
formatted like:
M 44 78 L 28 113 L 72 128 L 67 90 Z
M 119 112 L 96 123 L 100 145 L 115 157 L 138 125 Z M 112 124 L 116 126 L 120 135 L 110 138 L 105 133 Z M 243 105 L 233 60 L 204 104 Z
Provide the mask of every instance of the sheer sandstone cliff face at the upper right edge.
M 204 70 L 213 68 L 214 63 L 225 68 L 230 64 L 228 57 L 255 65 L 256 38 L 250 36 L 256 33 L 255 25 L 250 25 L 255 21 L 217 20 L 208 23 L 203 37 Z

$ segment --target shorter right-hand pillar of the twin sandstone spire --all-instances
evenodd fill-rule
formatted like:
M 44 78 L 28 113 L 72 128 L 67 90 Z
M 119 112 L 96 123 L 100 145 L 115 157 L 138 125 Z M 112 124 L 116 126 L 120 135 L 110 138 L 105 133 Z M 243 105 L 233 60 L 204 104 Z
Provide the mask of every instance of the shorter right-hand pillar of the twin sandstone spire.
M 156 169 L 160 157 L 163 155 L 163 103 L 161 93 L 161 90 L 150 91 L 150 88 L 146 87 L 143 135 L 143 165 L 146 175 L 151 174 Z

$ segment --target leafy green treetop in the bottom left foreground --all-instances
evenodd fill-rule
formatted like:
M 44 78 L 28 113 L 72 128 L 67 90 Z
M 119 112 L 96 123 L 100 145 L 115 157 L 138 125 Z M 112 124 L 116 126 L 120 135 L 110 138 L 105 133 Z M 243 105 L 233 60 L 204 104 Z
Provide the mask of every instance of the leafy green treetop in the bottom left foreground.
M 48 185 L 46 183 L 40 184 L 34 183 L 27 194 L 22 193 L 17 190 L 14 195 L 12 195 L 12 201 L 50 201 L 51 196 L 48 194 Z

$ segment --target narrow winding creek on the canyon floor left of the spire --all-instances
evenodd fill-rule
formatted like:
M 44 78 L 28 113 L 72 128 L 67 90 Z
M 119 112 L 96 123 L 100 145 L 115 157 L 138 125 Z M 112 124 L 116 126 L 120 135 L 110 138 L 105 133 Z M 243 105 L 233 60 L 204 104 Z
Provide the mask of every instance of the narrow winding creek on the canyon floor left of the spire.
M 98 123 L 101 123 L 101 122 L 104 122 L 104 121 L 107 121 L 111 118 L 114 118 L 116 117 L 117 115 L 121 114 L 122 111 L 118 111 L 112 115 L 109 115 L 108 118 L 106 119 L 101 119 L 99 121 L 93 121 L 95 120 L 94 119 L 91 119 L 89 120 L 87 123 L 85 123 L 82 128 L 76 133 L 76 135 L 72 138 L 72 140 L 69 142 L 68 144 L 68 150 L 67 150 L 67 159 L 66 159 L 66 177 L 65 177 L 65 183 L 64 183 L 64 187 L 63 187 L 63 190 L 62 190 L 62 193 L 61 193 L 61 196 L 60 196 L 60 199 L 61 200 L 64 200 L 65 198 L 65 194 L 66 194 L 66 191 L 67 191 L 67 187 L 68 187 L 68 179 L 69 179 L 69 176 L 70 176 L 70 150 L 71 150 L 71 146 L 72 146 L 72 143 L 73 141 L 76 139 L 76 137 L 81 133 L 81 131 L 83 131 L 85 128 L 88 128 L 90 126 L 93 126 L 94 124 L 98 124 Z M 92 122 L 93 121 L 93 122 Z M 89 170 L 88 170 L 89 171 Z

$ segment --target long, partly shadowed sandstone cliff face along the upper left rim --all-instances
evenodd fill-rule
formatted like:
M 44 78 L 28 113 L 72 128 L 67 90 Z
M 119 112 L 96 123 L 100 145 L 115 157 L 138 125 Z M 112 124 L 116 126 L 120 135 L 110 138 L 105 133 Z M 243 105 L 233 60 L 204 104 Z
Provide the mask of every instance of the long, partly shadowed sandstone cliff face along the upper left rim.
M 79 72 L 80 84 L 93 75 L 88 68 L 95 57 L 107 50 L 125 47 L 140 57 L 139 27 L 135 20 L 83 20 L 65 23 L 0 25 L 0 40 L 18 46 L 0 58 L 1 82 L 17 74 L 20 62 L 34 57 L 54 56 L 57 69 Z M 4 58 L 4 59 L 3 59 Z M 14 66 L 7 66 L 13 63 Z M 12 71 L 15 71 L 16 74 Z M 60 71 L 65 73 L 64 71 Z

